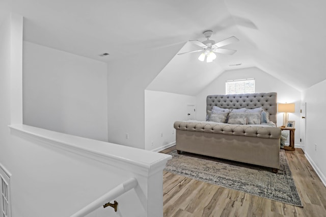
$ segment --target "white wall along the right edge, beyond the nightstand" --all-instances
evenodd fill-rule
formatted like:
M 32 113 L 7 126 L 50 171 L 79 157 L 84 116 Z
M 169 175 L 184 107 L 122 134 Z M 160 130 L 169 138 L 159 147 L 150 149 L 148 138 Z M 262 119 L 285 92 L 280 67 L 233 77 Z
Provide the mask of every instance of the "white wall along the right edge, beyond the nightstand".
M 326 186 L 325 92 L 326 80 L 323 80 L 304 92 L 303 101 L 307 102 L 305 154 Z

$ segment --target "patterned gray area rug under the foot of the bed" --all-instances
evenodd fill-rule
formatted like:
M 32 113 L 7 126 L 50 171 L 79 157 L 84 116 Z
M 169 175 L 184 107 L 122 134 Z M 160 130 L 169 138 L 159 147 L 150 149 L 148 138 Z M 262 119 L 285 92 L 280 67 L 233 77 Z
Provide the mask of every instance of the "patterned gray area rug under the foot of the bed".
M 280 169 L 242 164 L 231 160 L 182 152 L 170 153 L 165 171 L 208 182 L 235 191 L 303 206 L 297 193 L 284 150 L 280 151 Z

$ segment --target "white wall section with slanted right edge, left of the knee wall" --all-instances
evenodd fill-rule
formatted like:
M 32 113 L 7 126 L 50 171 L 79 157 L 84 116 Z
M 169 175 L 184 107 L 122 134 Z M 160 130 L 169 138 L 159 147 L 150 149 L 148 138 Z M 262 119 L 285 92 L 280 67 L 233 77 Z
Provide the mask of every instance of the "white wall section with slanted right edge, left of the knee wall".
M 108 63 L 109 142 L 145 149 L 145 89 L 182 45 Z

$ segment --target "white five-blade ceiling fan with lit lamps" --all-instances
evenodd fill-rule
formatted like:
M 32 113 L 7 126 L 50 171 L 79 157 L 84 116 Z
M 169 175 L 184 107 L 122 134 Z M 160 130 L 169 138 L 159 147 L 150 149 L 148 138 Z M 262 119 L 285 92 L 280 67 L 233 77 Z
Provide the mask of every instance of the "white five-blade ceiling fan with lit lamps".
M 230 38 L 224 39 L 218 43 L 215 43 L 214 40 L 210 40 L 210 36 L 212 35 L 213 31 L 208 30 L 203 32 L 204 36 L 206 37 L 206 41 L 200 42 L 198 40 L 189 40 L 193 44 L 201 47 L 200 50 L 193 50 L 193 51 L 188 51 L 184 53 L 178 53 L 178 55 L 184 55 L 185 53 L 194 53 L 194 52 L 202 52 L 201 55 L 199 56 L 198 60 L 204 61 L 206 59 L 207 63 L 212 62 L 213 60 L 216 59 L 215 53 L 223 53 L 227 55 L 233 55 L 233 53 L 236 52 L 236 50 L 231 50 L 231 49 L 225 49 L 221 48 L 225 45 L 231 44 L 233 42 L 239 41 L 234 36 L 231 36 Z

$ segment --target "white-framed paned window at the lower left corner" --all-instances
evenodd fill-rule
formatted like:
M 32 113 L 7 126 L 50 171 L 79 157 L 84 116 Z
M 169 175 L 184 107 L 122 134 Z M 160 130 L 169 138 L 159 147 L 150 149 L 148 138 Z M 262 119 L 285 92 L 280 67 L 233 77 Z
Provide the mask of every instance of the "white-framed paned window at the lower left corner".
M 0 164 L 0 211 L 3 217 L 11 216 L 10 208 L 10 178 L 8 173 L 5 172 L 4 168 Z

